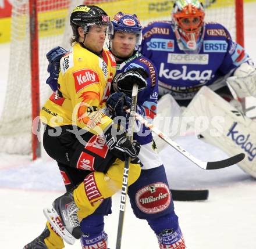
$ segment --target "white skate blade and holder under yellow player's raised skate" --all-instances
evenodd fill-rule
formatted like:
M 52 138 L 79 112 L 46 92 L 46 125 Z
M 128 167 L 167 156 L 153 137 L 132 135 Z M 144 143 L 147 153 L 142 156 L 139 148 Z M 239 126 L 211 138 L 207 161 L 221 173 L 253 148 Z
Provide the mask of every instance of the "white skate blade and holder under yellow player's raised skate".
M 44 215 L 49 221 L 49 223 L 51 223 L 51 225 L 54 227 L 59 236 L 61 236 L 67 244 L 73 245 L 76 239 L 65 228 L 55 208 L 44 208 Z

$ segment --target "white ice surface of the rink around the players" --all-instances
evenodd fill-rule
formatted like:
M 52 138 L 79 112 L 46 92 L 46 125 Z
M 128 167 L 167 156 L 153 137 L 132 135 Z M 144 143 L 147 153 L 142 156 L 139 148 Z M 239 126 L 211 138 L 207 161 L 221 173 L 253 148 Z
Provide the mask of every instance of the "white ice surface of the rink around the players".
M 256 62 L 256 3 L 245 6 L 247 52 Z M 0 45 L 0 109 L 6 89 L 9 45 Z M 251 99 L 256 104 L 255 99 Z M 215 161 L 226 155 L 205 143 L 186 136 L 177 140 L 201 160 Z M 209 199 L 202 202 L 175 201 L 187 248 L 255 249 L 256 181 L 236 165 L 204 171 L 191 164 L 172 148 L 161 153 L 170 186 L 208 188 Z M 27 157 L 0 155 L 0 248 L 22 249 L 45 226 L 42 208 L 62 194 L 62 178 L 52 160 L 31 162 Z M 109 247 L 115 248 L 120 195 L 113 197 L 113 214 L 105 218 Z M 77 241 L 74 246 L 81 248 Z M 147 222 L 135 218 L 127 203 L 122 249 L 157 249 L 158 243 Z

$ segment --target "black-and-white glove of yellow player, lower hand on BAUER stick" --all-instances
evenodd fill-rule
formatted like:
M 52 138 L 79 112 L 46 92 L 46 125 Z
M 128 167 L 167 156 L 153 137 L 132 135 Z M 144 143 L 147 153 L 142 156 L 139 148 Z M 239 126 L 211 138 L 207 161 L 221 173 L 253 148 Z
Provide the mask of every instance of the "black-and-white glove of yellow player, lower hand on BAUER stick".
M 139 163 L 137 156 L 140 152 L 140 143 L 135 140 L 131 143 L 130 140 L 126 138 L 125 132 L 120 132 L 115 127 L 116 125 L 112 125 L 105 132 L 106 145 L 113 155 L 120 160 L 125 161 L 126 157 L 131 157 L 133 163 Z

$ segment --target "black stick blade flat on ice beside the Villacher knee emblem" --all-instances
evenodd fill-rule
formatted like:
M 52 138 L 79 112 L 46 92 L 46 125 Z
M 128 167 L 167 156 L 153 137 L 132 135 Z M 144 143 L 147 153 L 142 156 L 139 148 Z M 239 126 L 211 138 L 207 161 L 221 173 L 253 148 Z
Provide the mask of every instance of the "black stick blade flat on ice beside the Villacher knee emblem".
M 208 199 L 208 189 L 170 189 L 174 201 L 204 201 Z

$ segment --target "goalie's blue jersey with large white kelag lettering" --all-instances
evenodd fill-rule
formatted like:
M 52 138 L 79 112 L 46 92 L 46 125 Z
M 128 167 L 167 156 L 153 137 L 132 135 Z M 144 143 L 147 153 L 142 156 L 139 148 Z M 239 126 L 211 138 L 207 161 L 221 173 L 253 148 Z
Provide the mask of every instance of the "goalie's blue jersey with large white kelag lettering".
M 156 21 L 143 29 L 141 53 L 158 70 L 159 95 L 171 93 L 176 100 L 192 99 L 207 85 L 214 91 L 225 85 L 216 82 L 250 60 L 244 48 L 232 41 L 221 24 L 206 23 L 198 53 L 179 49 L 172 21 Z

